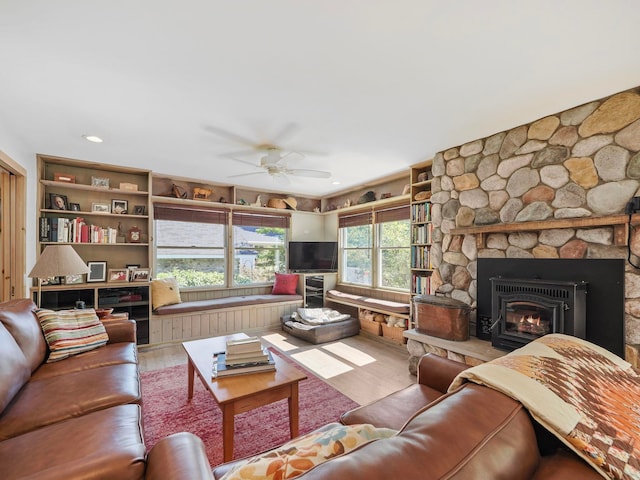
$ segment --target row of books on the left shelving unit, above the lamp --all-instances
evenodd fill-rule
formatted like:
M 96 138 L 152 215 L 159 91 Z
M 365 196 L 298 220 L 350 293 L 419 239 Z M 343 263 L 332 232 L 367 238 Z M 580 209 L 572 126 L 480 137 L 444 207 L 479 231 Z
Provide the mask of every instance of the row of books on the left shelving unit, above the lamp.
M 89 225 L 84 218 L 40 217 L 40 241 L 117 243 L 118 229 Z

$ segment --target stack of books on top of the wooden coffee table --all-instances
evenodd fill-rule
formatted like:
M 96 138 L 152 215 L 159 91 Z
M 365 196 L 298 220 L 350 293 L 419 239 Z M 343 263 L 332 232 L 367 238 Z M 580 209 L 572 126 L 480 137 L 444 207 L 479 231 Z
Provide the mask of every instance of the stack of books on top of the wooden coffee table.
M 227 341 L 225 352 L 216 356 L 213 376 L 217 378 L 275 369 L 276 364 L 269 349 L 262 346 L 258 337 L 249 337 Z

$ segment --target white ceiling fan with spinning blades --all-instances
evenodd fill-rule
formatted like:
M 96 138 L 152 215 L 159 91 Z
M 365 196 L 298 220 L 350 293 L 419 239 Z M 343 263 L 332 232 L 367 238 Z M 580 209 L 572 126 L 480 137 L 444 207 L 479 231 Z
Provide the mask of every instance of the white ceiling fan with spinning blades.
M 276 142 L 282 141 L 285 136 L 289 136 L 291 132 L 295 129 L 294 124 L 289 124 L 285 126 L 285 128 L 274 137 L 272 142 L 253 142 L 247 138 L 244 138 L 240 135 L 236 135 L 234 133 L 227 132 L 225 130 L 219 129 L 217 127 L 206 127 L 208 131 L 219 135 L 221 137 L 230 139 L 236 143 L 240 143 L 242 145 L 246 145 L 249 149 L 222 153 L 221 156 L 230 158 L 236 162 L 244 163 L 250 165 L 254 168 L 259 168 L 259 171 L 248 172 L 248 173 L 240 173 L 237 175 L 230 175 L 228 178 L 232 177 L 246 177 L 251 175 L 271 175 L 274 180 L 279 181 L 280 183 L 289 183 L 289 179 L 287 175 L 298 176 L 298 177 L 311 177 L 311 178 L 329 178 L 331 177 L 331 172 L 326 172 L 323 170 L 310 170 L 305 168 L 291 168 L 289 166 L 290 162 L 295 162 L 302 160 L 305 156 L 300 151 L 287 151 L 277 145 Z M 256 164 L 249 160 L 244 160 L 238 157 L 244 157 L 247 155 L 255 155 L 260 154 L 260 163 Z

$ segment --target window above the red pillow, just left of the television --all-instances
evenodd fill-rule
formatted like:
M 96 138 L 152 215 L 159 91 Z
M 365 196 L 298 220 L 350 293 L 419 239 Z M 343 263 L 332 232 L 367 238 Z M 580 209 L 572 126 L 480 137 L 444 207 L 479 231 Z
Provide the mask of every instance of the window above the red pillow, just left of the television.
M 288 215 L 233 212 L 233 284 L 268 283 L 287 263 Z

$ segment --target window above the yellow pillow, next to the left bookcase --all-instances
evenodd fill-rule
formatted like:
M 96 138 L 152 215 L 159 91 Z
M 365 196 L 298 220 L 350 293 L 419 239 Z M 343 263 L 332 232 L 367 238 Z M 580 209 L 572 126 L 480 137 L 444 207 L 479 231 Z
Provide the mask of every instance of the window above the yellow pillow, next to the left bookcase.
M 228 213 L 155 205 L 156 276 L 181 287 L 224 286 Z

